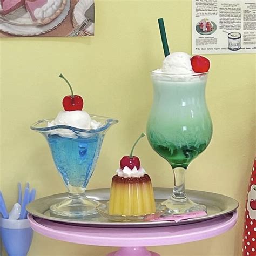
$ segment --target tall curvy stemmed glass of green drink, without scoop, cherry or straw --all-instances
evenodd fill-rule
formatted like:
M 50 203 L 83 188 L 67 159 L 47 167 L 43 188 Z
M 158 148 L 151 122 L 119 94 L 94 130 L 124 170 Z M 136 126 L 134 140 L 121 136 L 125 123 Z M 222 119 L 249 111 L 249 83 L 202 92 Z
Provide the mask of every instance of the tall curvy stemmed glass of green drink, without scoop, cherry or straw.
M 206 211 L 188 199 L 185 173 L 212 138 L 212 121 L 205 100 L 207 73 L 171 75 L 152 72 L 153 105 L 147 121 L 147 139 L 174 172 L 174 187 L 166 214 Z

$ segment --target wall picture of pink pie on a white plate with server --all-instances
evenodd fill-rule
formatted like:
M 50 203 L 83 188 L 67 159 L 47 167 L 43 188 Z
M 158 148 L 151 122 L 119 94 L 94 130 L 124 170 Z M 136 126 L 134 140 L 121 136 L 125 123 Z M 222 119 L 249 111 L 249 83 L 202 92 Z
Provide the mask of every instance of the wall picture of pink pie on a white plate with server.
M 93 36 L 94 0 L 0 0 L 0 37 Z

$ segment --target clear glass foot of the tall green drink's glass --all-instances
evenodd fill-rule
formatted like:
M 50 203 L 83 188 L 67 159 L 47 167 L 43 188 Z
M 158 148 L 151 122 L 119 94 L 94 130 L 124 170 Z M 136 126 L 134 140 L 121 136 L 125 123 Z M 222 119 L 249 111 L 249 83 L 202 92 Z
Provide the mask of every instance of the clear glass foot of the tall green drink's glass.
M 172 215 L 172 214 L 184 214 L 189 212 L 198 212 L 198 211 L 205 211 L 207 212 L 207 207 L 205 205 L 199 205 L 194 203 L 188 198 L 185 199 L 175 199 L 173 197 L 163 201 L 161 203 L 167 207 L 167 211 L 165 212 L 164 216 Z

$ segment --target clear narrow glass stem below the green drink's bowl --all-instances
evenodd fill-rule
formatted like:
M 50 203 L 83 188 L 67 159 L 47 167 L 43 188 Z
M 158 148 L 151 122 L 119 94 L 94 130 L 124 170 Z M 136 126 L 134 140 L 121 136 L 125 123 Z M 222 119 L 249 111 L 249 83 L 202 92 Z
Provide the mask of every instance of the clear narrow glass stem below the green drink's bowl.
M 174 187 L 172 191 L 172 198 L 176 200 L 184 200 L 187 198 L 185 191 L 185 174 L 186 169 L 183 167 L 176 167 L 173 169 L 174 173 Z

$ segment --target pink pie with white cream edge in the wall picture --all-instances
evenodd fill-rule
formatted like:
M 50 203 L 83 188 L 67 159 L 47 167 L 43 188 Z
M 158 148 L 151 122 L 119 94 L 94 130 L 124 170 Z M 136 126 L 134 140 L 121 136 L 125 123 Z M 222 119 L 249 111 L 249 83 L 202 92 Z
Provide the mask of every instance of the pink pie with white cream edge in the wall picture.
M 1 0 L 0 14 L 8 15 L 24 6 L 32 21 L 48 24 L 64 10 L 66 0 Z

